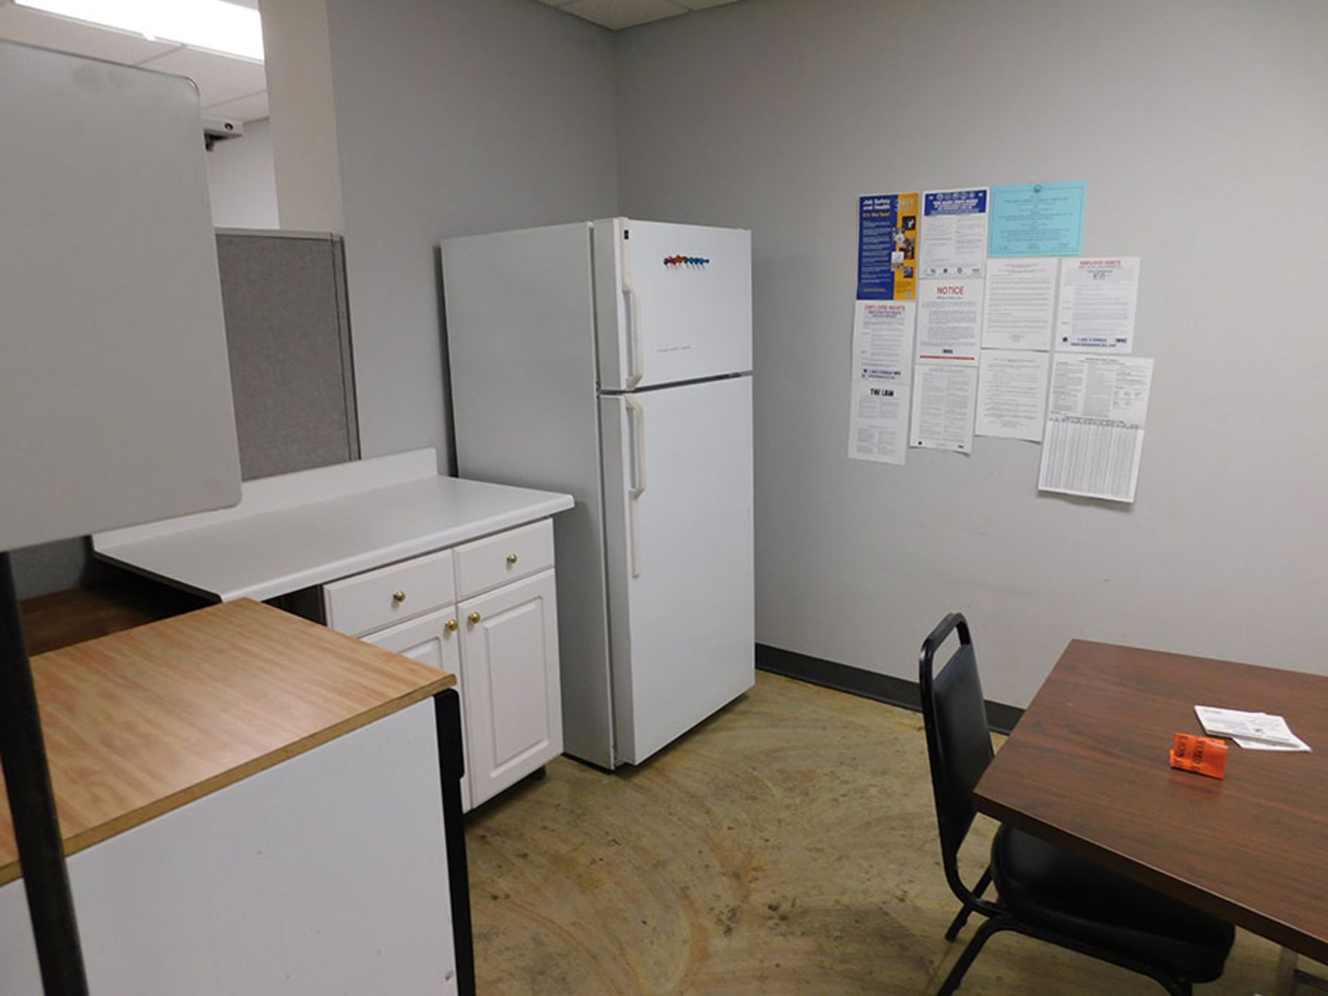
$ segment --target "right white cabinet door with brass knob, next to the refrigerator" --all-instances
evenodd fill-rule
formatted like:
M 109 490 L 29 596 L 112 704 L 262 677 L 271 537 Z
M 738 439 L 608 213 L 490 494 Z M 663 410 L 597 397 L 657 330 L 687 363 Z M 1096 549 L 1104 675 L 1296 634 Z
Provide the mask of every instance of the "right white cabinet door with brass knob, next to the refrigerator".
M 461 603 L 471 799 L 479 805 L 563 750 L 554 572 Z

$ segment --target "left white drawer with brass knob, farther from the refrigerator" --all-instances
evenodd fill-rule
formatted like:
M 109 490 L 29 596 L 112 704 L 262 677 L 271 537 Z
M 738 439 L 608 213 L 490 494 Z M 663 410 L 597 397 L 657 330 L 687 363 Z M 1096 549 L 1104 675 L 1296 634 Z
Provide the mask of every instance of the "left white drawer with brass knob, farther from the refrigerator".
M 412 619 L 453 602 L 456 595 L 450 550 L 323 586 L 327 624 L 352 636 Z

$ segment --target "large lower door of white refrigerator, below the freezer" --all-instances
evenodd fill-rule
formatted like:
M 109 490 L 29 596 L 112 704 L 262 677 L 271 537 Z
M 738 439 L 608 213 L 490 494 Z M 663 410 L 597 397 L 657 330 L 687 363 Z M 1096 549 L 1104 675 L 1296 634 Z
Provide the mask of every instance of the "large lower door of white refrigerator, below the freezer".
M 600 398 L 616 760 L 756 680 L 752 378 Z

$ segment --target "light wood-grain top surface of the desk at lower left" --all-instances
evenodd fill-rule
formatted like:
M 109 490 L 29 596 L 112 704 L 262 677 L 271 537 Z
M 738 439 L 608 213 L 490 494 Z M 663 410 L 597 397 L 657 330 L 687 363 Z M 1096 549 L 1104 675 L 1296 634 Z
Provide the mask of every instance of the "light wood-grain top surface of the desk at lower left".
M 250 600 L 39 655 L 32 679 L 66 854 L 457 684 Z M 0 793 L 0 884 L 19 874 Z

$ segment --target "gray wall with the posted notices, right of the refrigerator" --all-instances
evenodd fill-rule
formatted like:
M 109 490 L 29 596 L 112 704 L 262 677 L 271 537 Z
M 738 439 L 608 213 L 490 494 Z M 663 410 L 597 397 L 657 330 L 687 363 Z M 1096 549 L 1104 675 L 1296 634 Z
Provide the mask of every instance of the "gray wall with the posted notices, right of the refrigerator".
M 960 608 L 1012 704 L 1072 636 L 1328 672 L 1325 37 L 1321 0 L 745 0 L 620 36 L 623 212 L 754 234 L 761 641 L 916 679 Z M 1085 251 L 1143 256 L 1138 502 L 1038 497 L 1017 441 L 847 459 L 855 198 L 1080 178 Z

